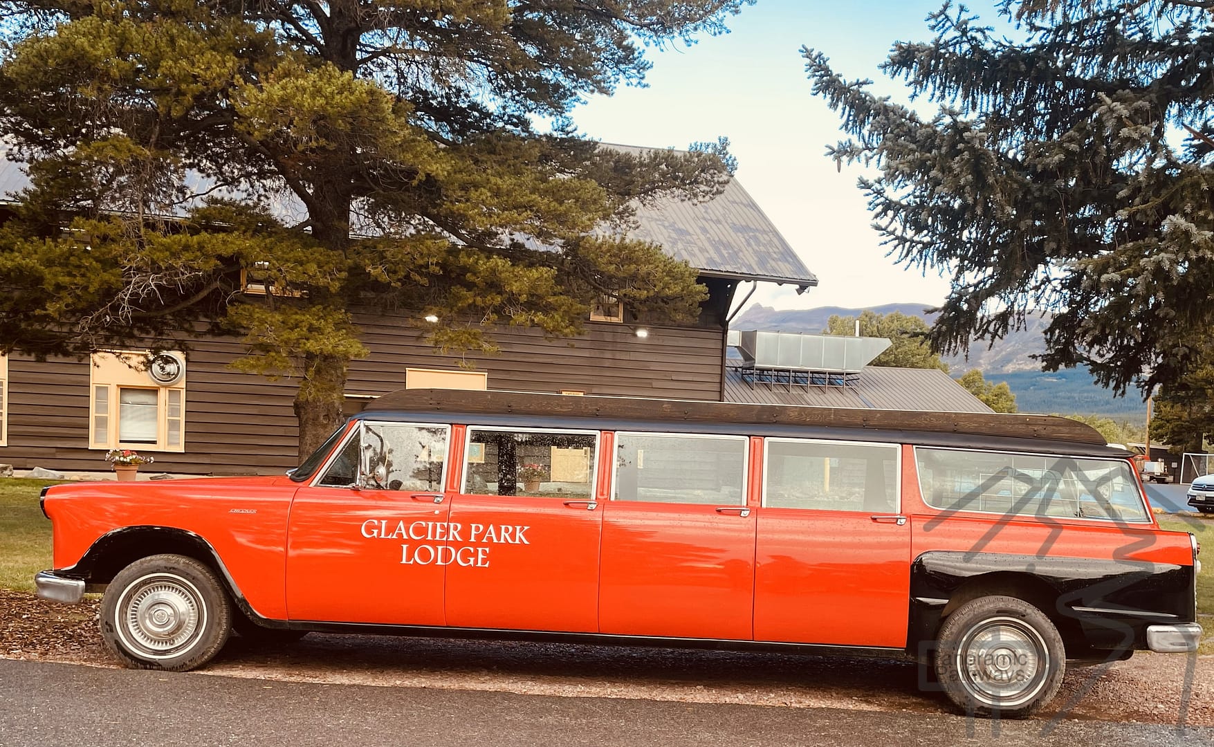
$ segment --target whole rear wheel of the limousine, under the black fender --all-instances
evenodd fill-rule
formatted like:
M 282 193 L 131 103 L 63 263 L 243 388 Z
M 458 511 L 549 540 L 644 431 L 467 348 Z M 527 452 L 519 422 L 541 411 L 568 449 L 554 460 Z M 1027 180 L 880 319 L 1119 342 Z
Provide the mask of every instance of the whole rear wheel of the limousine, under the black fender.
M 968 714 L 1026 717 L 1054 698 L 1065 673 L 1057 628 L 1022 599 L 970 600 L 940 628 L 936 677 Z

